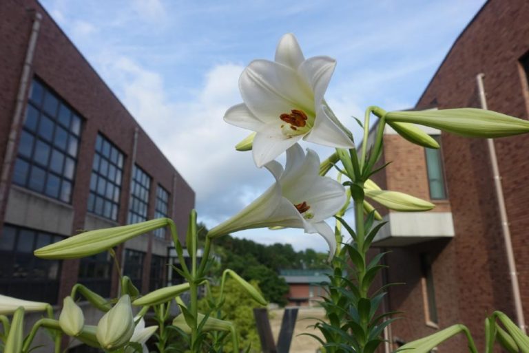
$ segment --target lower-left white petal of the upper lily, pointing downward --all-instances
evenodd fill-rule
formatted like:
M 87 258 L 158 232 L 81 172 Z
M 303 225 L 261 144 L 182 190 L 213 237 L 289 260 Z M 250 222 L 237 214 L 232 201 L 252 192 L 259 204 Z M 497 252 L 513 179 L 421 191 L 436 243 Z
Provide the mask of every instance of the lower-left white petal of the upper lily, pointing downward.
M 251 152 L 257 167 L 262 167 L 298 142 L 303 136 L 284 136 L 278 125 L 269 124 L 257 132 L 253 138 Z M 272 142 L 272 143 L 271 143 Z

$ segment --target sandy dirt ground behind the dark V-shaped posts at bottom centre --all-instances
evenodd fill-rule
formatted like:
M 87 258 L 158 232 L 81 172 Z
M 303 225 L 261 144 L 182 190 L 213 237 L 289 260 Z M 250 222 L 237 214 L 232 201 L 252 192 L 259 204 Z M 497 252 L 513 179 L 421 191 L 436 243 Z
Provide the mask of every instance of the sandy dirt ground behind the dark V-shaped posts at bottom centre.
M 283 318 L 284 309 L 276 309 L 269 311 L 270 326 L 273 333 L 273 338 L 277 342 L 279 330 L 281 328 L 281 320 Z M 292 336 L 292 343 L 290 345 L 289 353 L 315 353 L 320 343 L 311 336 L 302 335 L 304 332 L 315 334 L 318 337 L 323 337 L 320 330 L 314 328 L 307 328 L 316 323 L 315 319 L 324 319 L 325 312 L 322 308 L 304 308 L 301 307 L 298 311 L 298 319 L 295 322 L 294 334 Z

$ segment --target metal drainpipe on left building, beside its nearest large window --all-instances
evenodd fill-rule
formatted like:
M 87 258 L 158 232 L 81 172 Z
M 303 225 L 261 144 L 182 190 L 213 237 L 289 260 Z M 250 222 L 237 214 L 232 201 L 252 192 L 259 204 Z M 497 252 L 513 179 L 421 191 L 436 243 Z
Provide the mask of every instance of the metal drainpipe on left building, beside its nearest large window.
M 28 91 L 28 83 L 30 81 L 31 67 L 33 65 L 33 56 L 35 47 L 37 46 L 37 38 L 41 29 L 42 14 L 34 12 L 33 25 L 31 28 L 30 40 L 28 41 L 28 51 L 25 53 L 24 67 L 20 76 L 19 92 L 17 94 L 17 105 L 14 109 L 14 114 L 11 122 L 8 144 L 6 146 L 6 154 L 3 156 L 3 165 L 0 176 L 0 207 L 6 203 L 8 196 L 8 180 L 11 170 L 11 164 L 14 158 L 15 147 L 17 145 L 17 137 L 19 132 L 19 125 L 21 123 L 22 114 L 24 112 L 25 92 Z

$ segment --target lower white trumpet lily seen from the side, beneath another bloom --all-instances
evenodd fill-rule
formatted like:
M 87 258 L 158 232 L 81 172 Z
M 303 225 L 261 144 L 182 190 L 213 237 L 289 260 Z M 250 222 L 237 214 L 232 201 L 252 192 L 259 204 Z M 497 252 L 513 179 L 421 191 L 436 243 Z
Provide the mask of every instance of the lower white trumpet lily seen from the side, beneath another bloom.
M 211 229 L 208 236 L 214 238 L 244 229 L 270 226 L 303 228 L 305 233 L 320 233 L 333 256 L 336 240 L 333 230 L 324 220 L 344 206 L 344 186 L 320 176 L 318 154 L 308 149 L 305 156 L 298 144 L 287 150 L 284 171 L 275 160 L 265 167 L 276 182 L 237 215 Z

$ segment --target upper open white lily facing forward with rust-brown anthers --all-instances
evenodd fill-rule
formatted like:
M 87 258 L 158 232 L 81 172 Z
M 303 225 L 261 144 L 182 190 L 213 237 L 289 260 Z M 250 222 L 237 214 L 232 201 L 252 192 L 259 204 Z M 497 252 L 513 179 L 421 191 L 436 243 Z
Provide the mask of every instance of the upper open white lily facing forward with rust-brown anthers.
M 231 125 L 256 131 L 253 160 L 262 167 L 301 138 L 320 145 L 353 148 L 351 138 L 324 102 L 336 61 L 305 59 L 293 34 L 282 36 L 276 61 L 255 60 L 242 72 L 244 103 L 226 111 Z

